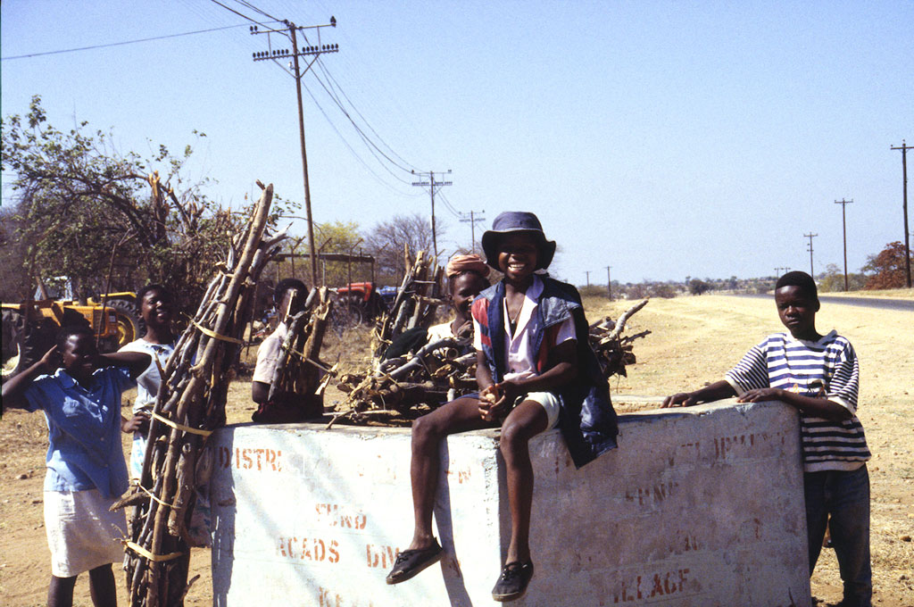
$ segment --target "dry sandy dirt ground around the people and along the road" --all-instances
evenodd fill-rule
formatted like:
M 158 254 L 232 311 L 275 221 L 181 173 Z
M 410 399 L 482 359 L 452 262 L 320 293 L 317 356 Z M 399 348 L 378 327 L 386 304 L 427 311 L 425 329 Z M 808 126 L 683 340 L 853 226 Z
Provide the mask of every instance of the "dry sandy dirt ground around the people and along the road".
M 879 293 L 880 296 L 912 292 Z M 595 320 L 609 314 L 617 318 L 630 302 L 588 302 L 588 316 Z M 914 605 L 914 326 L 910 312 L 881 311 L 852 305 L 824 304 L 818 328 L 835 328 L 856 347 L 861 361 L 859 417 L 873 461 L 872 560 L 874 602 L 884 607 Z M 614 399 L 623 403 L 633 395 L 663 396 L 695 389 L 721 378 L 753 344 L 781 325 L 770 301 L 722 295 L 652 300 L 635 314 L 627 333 L 650 329 L 651 335 L 635 342 L 638 363 L 628 378 L 612 381 Z M 351 343 L 332 344 L 322 357 L 334 360 L 364 357 L 356 344 L 366 343 L 366 333 Z M 354 361 L 352 367 L 360 363 Z M 248 421 L 250 383 L 234 382 L 229 390 L 228 421 Z M 328 394 L 330 404 L 339 393 Z M 125 398 L 125 404 L 129 402 Z M 634 407 L 621 405 L 621 411 Z M 643 408 L 641 405 L 639 408 Z M 41 415 L 8 411 L 0 421 L 0 605 L 44 604 L 48 579 L 48 547 L 42 522 L 42 480 L 47 450 L 47 429 Z M 127 437 L 124 437 L 125 453 Z M 187 595 L 187 604 L 211 602 L 207 550 L 195 550 L 191 575 L 200 580 Z M 120 604 L 126 604 L 122 575 L 116 570 Z M 88 580 L 77 582 L 76 605 L 90 605 Z M 834 551 L 824 549 L 813 574 L 816 604 L 834 605 L 841 599 Z

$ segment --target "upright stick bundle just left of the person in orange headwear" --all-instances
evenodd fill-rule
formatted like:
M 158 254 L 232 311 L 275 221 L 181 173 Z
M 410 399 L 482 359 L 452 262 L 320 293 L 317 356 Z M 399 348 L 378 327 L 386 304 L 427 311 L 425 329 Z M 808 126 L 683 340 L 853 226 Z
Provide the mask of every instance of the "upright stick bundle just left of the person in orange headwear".
M 444 303 L 441 298 L 444 269 L 437 261 L 424 250 L 411 260 L 409 245 L 404 248 L 403 257 L 408 270 L 400 283 L 397 297 L 390 310 L 381 315 L 371 334 L 372 354 L 376 360 L 384 355 L 394 337 L 417 326 L 428 327 L 438 306 Z

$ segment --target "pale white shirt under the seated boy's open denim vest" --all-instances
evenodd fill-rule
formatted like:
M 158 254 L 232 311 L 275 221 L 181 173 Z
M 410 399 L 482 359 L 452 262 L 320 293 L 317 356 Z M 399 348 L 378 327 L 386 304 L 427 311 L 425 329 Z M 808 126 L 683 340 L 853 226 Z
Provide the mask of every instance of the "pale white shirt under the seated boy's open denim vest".
M 520 314 L 517 315 L 517 329 L 511 335 L 511 326 L 508 323 L 507 298 L 502 300 L 502 314 L 505 318 L 505 352 L 507 353 L 507 366 L 505 379 L 522 379 L 537 375 L 537 352 L 533 351 L 530 337 L 539 329 L 539 316 L 536 314 L 539 296 L 543 294 L 543 281 L 534 274 L 533 284 L 524 293 L 524 304 Z M 482 331 L 479 324 L 473 319 L 473 346 L 477 352 L 483 350 Z M 492 336 L 493 339 L 495 336 Z M 574 319 L 568 318 L 558 325 L 556 345 L 576 339 Z

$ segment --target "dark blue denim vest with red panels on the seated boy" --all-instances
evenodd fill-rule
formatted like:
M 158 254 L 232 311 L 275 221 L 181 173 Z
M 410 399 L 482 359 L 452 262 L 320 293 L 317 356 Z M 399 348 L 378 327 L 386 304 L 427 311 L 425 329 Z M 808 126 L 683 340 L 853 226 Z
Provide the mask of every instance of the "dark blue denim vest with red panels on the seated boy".
M 616 412 L 612 409 L 609 384 L 600 371 L 600 363 L 590 348 L 590 327 L 584 316 L 578 290 L 565 282 L 543 277 L 543 293 L 537 302 L 538 330 L 530 342 L 537 353 L 537 373 L 546 369 L 548 349 L 555 346 L 558 325 L 574 319 L 578 342 L 578 378 L 551 390 L 561 402 L 558 429 L 568 445 L 575 466 L 580 468 L 600 454 L 616 448 L 619 433 Z M 481 341 L 494 382 L 505 377 L 505 318 L 502 314 L 505 282 L 498 282 L 480 293 L 473 302 L 473 317 L 482 331 Z M 553 330 L 553 331 L 550 331 Z

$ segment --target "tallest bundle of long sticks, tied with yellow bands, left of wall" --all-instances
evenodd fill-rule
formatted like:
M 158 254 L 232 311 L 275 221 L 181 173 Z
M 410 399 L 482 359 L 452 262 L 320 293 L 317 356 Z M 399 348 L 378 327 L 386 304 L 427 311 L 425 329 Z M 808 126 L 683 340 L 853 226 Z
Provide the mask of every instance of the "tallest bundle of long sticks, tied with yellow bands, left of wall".
M 263 186 L 197 314 L 161 371 L 140 484 L 112 508 L 136 506 L 125 567 L 133 607 L 181 605 L 189 584 L 187 523 L 212 467 L 207 436 L 225 425 L 228 381 L 252 314 L 254 284 L 285 238 L 265 238 L 272 185 Z M 193 580 L 191 580 L 193 581 Z

